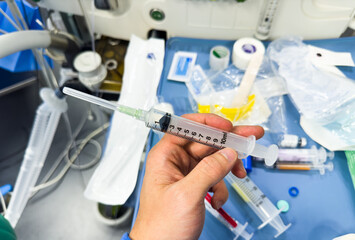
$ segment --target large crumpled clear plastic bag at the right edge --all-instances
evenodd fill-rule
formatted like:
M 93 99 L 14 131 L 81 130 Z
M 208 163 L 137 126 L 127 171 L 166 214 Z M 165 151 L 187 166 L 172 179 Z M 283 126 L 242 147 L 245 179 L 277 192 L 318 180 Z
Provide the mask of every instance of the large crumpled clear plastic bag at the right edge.
M 273 41 L 267 55 L 276 74 L 286 82 L 290 97 L 306 120 L 324 127 L 323 136 L 334 135 L 343 149 L 355 145 L 355 82 L 313 65 L 310 48 L 300 38 Z M 313 132 L 313 139 L 321 136 Z M 331 144 L 328 144 L 331 145 Z

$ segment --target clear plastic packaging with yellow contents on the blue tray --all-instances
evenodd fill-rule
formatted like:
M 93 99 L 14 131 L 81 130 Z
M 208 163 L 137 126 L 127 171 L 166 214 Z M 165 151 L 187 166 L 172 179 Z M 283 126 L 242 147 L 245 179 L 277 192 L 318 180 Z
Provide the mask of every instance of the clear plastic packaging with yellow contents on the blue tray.
M 220 72 L 205 72 L 200 66 L 195 66 L 186 85 L 200 113 L 215 113 L 234 124 L 266 122 L 271 111 L 258 87 L 251 89 L 245 104 L 239 107 L 233 105 L 243 76 L 244 71 L 234 65 Z

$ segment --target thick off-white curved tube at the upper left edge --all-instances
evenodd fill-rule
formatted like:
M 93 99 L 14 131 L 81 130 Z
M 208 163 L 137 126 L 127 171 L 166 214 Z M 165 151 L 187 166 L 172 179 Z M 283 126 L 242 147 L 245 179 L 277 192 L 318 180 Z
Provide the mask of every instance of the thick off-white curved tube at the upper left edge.
M 0 58 L 15 52 L 32 49 L 47 48 L 51 44 L 49 31 L 20 31 L 7 33 L 0 36 Z

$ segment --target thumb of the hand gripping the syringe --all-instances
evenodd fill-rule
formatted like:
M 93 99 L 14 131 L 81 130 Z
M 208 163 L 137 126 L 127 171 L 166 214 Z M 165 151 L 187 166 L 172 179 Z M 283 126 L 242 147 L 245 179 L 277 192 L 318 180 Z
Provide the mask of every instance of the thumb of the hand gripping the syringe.
M 203 197 L 207 191 L 220 182 L 233 168 L 238 154 L 231 148 L 224 148 L 202 159 L 183 179 L 194 193 Z

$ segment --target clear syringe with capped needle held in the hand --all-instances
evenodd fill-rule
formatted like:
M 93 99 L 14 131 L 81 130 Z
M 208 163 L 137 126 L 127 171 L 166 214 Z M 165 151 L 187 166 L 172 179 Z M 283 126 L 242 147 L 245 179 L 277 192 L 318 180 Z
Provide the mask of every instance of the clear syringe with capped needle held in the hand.
M 115 104 L 67 87 L 63 89 L 63 92 L 70 96 L 132 116 L 144 121 L 147 127 L 157 131 L 166 132 L 218 149 L 225 147 L 233 148 L 240 154 L 240 158 L 248 155 L 261 157 L 265 159 L 267 166 L 272 166 L 277 159 L 278 147 L 274 144 L 269 147 L 257 144 L 255 143 L 255 136 L 243 137 L 154 108 L 145 111 Z

